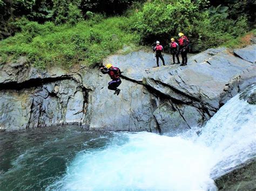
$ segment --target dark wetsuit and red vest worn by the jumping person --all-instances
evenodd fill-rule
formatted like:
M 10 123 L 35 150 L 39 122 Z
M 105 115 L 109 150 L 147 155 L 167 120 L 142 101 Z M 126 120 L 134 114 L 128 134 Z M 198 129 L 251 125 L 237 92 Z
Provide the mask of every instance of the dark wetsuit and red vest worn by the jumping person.
M 120 84 L 122 83 L 119 77 L 118 68 L 112 67 L 110 69 L 107 69 L 104 67 L 103 69 L 100 69 L 100 71 L 103 74 L 109 74 L 110 78 L 112 79 L 112 81 L 109 82 L 109 86 L 107 88 L 117 91 L 117 87 L 120 86 Z

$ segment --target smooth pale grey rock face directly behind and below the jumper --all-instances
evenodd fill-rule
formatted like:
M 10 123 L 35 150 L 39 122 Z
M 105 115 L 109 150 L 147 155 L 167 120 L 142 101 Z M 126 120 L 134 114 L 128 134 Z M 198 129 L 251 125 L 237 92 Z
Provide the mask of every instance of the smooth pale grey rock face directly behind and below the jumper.
M 107 89 L 111 81 L 109 75 L 99 70 L 85 71 L 83 84 L 93 91 L 89 92 L 84 125 L 89 130 L 126 130 L 156 132 L 157 125 L 153 117 L 153 104 L 156 96 L 141 84 L 122 80 L 118 88 L 119 96 Z

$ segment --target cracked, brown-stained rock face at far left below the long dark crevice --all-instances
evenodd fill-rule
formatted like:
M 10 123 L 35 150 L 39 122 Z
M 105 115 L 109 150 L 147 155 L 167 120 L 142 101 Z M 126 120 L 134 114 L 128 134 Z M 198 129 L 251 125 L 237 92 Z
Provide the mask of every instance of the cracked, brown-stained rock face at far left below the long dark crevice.
M 1 129 L 17 130 L 56 124 L 82 124 L 84 91 L 62 80 L 19 91 L 0 91 Z

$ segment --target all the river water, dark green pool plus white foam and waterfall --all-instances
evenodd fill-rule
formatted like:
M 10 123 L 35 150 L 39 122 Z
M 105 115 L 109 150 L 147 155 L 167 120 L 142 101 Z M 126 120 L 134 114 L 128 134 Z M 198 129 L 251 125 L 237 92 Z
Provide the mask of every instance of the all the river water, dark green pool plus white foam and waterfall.
M 197 135 L 57 126 L 0 133 L 0 190 L 215 190 L 255 157 L 255 105 L 233 97 Z

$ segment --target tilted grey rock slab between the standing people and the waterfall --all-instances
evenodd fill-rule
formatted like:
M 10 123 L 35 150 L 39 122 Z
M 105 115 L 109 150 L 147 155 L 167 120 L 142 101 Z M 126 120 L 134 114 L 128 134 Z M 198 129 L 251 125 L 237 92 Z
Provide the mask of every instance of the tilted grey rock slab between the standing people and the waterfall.
M 206 53 L 203 52 L 203 56 Z M 192 56 L 188 66 L 152 70 L 145 77 L 144 83 L 175 100 L 184 103 L 201 102 L 210 111 L 218 110 L 226 84 L 251 67 L 251 63 L 232 55 L 226 49 L 215 55 L 208 54 L 207 59 L 196 63 L 194 60 L 200 54 Z

